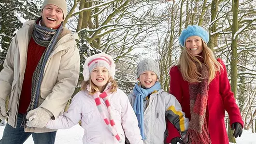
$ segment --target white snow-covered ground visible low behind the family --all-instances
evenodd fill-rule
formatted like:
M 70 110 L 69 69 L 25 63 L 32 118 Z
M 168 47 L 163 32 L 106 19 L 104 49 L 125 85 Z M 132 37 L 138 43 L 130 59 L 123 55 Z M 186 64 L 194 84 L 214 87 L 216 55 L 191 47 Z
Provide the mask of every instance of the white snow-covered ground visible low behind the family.
M 5 126 L 0 126 L 0 138 L 2 137 Z M 71 129 L 58 130 L 55 144 L 82 144 L 84 130 L 79 125 L 75 125 Z M 30 136 L 24 144 L 34 144 Z M 230 143 L 232 144 L 232 143 Z M 251 130 L 243 130 L 242 136 L 237 138 L 237 144 L 256 144 L 256 133 Z

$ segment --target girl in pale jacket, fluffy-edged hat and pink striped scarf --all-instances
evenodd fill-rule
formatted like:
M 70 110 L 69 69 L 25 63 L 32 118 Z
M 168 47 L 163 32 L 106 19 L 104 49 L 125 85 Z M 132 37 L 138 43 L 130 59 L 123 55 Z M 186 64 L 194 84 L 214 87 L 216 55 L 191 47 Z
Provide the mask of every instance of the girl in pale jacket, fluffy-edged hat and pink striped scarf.
M 111 56 L 96 54 L 84 65 L 82 91 L 73 98 L 63 116 L 50 120 L 50 129 L 68 129 L 82 120 L 83 144 L 143 144 L 138 120 L 128 96 L 113 79 L 115 64 Z

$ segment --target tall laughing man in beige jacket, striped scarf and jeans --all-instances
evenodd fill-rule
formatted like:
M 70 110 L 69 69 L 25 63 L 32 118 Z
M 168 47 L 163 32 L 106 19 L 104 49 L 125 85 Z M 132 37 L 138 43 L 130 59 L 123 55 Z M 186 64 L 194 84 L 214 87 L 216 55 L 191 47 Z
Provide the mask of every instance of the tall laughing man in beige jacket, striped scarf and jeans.
M 35 144 L 54 144 L 57 130 L 37 127 L 63 112 L 79 77 L 78 36 L 63 27 L 66 15 L 65 0 L 44 0 L 41 17 L 14 36 L 0 72 L 0 119 L 9 115 L 0 144 L 23 144 L 31 134 Z

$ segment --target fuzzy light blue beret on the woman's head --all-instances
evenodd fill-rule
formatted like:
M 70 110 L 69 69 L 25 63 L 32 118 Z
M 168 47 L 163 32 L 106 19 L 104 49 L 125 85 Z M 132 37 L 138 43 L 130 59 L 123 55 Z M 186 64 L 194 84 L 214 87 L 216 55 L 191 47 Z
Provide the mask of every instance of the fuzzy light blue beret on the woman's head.
M 185 41 L 190 36 L 199 36 L 205 43 L 209 42 L 209 34 L 205 29 L 198 25 L 188 25 L 187 28 L 181 32 L 179 37 L 179 41 L 182 47 L 185 47 Z

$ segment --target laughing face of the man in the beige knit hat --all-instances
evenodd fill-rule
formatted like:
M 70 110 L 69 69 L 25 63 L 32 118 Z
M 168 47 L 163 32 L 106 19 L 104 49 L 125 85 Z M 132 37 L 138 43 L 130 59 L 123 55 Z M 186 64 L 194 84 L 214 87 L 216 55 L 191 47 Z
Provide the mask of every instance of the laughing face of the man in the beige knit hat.
M 41 15 L 43 18 L 42 25 L 48 28 L 54 28 L 64 21 L 62 10 L 53 4 L 46 5 Z

